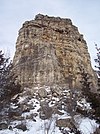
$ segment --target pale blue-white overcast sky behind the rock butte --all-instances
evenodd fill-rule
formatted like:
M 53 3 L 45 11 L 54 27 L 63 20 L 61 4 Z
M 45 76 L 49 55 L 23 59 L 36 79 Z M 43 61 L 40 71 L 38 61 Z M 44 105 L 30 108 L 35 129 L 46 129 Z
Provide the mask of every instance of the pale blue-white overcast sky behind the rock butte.
M 100 47 L 100 0 L 0 0 L 0 49 L 12 57 L 19 29 L 38 13 L 70 18 L 84 35 L 93 63 L 94 43 Z

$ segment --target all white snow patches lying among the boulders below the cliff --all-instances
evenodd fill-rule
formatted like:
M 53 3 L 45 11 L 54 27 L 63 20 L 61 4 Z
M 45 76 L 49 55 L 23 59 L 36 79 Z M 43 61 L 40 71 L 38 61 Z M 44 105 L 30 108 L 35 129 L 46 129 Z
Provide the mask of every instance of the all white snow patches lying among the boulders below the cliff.
M 46 90 L 49 92 L 50 91 L 49 87 L 46 87 Z M 19 103 L 23 103 L 25 99 L 26 97 L 20 96 Z M 22 131 L 20 129 L 14 128 L 14 126 L 22 123 L 21 121 L 14 121 L 10 125 L 12 126 L 13 130 L 9 130 L 9 129 L 0 130 L 0 134 L 62 134 L 59 128 L 56 126 L 56 120 L 71 118 L 71 116 L 69 116 L 66 111 L 59 110 L 64 114 L 63 115 L 53 114 L 52 117 L 47 120 L 40 119 L 39 115 L 37 114 L 37 116 L 34 117 L 34 119 L 36 120 L 35 122 L 32 119 L 27 119 L 26 117 L 31 115 L 32 113 L 38 113 L 37 110 L 40 108 L 40 102 L 35 98 L 32 98 L 27 101 L 28 101 L 27 104 L 32 104 L 34 106 L 34 109 L 22 114 L 22 117 L 24 117 L 25 119 L 24 123 L 26 124 L 28 130 Z M 57 102 L 59 102 L 59 98 L 52 97 L 52 102 L 53 104 L 56 104 Z M 53 104 L 50 102 L 49 106 L 53 106 Z M 81 101 L 77 101 L 77 104 L 80 107 L 90 109 L 90 104 L 88 104 L 85 99 L 82 99 Z M 13 109 L 17 108 L 17 106 L 14 105 L 13 103 L 11 103 L 11 107 Z M 98 127 L 95 120 L 91 120 L 89 118 L 83 118 L 82 116 L 77 116 L 75 117 L 75 119 L 78 124 L 79 130 L 82 132 L 82 134 L 91 134 Z

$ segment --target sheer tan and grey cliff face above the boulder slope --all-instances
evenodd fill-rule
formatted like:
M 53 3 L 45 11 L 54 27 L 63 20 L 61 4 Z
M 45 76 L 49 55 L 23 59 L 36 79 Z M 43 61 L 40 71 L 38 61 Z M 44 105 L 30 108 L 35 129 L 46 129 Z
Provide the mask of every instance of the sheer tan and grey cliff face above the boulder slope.
M 86 41 L 70 19 L 38 14 L 19 30 L 13 60 L 25 87 L 81 88 L 82 69 L 96 86 Z

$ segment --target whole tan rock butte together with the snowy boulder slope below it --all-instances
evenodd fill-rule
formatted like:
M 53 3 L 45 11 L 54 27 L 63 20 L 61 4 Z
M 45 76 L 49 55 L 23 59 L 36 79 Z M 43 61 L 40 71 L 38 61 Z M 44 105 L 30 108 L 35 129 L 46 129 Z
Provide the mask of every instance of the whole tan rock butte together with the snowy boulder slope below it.
M 99 132 L 95 109 L 79 90 L 82 83 L 84 91 L 89 83 L 95 89 L 96 77 L 86 42 L 71 20 L 39 14 L 25 22 L 13 65 L 23 90 L 0 102 L 0 134 Z

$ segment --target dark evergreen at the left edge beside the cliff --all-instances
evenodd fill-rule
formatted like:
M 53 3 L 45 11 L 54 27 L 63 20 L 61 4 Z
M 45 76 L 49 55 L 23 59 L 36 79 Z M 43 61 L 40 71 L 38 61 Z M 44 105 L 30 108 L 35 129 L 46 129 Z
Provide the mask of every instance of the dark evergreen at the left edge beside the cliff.
M 20 92 L 21 86 L 16 83 L 16 76 L 12 73 L 13 65 L 0 51 L 0 101 L 11 98 Z

